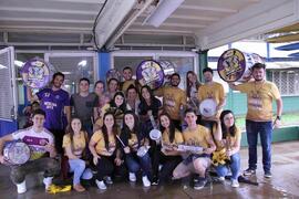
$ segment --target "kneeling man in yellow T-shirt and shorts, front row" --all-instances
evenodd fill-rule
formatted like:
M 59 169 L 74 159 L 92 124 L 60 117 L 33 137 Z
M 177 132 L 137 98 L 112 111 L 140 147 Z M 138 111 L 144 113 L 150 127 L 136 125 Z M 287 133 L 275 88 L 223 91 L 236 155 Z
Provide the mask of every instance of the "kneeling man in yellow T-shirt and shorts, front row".
M 196 174 L 194 189 L 202 189 L 206 185 L 206 169 L 210 166 L 210 154 L 216 149 L 209 130 L 196 124 L 196 113 L 186 109 L 185 121 L 187 128 L 183 132 L 185 145 L 200 146 L 203 151 L 186 151 L 184 160 L 175 168 L 173 178 L 184 178 L 190 174 Z

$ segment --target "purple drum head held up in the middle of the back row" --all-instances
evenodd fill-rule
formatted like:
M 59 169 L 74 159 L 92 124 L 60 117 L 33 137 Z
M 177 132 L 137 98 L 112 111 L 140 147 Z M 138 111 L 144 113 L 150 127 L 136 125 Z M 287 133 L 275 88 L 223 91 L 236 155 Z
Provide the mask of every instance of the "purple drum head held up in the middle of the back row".
M 145 60 L 137 66 L 136 78 L 141 85 L 148 85 L 152 90 L 156 90 L 163 85 L 164 72 L 158 62 Z

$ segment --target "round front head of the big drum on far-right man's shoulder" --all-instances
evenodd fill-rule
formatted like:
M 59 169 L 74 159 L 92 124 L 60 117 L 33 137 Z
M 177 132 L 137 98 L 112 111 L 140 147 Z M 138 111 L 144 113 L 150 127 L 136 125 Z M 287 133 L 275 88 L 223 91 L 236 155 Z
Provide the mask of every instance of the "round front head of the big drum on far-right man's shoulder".
M 218 60 L 217 71 L 225 82 L 236 82 L 246 71 L 244 53 L 237 49 L 225 51 Z

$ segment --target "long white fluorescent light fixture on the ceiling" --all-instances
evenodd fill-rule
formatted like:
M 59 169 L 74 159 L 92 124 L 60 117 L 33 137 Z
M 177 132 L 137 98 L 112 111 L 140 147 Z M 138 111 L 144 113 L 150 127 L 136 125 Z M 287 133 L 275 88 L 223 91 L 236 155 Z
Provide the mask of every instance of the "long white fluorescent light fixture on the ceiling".
M 158 28 L 184 0 L 161 0 L 157 8 L 144 20 L 143 24 L 151 24 Z

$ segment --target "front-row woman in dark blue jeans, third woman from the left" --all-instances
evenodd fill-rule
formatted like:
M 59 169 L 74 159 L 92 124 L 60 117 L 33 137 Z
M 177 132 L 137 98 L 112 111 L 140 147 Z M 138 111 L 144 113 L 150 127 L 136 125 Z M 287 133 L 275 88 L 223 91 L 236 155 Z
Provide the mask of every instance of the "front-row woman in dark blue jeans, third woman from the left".
M 130 181 L 136 181 L 136 172 L 142 169 L 142 181 L 144 187 L 150 187 L 151 181 L 151 158 L 148 153 L 143 156 L 137 155 L 137 150 L 143 147 L 147 149 L 148 140 L 145 135 L 142 134 L 138 118 L 132 111 L 127 111 L 124 114 L 123 128 L 121 139 L 124 144 L 125 164 L 128 168 Z

